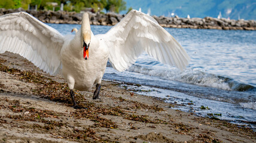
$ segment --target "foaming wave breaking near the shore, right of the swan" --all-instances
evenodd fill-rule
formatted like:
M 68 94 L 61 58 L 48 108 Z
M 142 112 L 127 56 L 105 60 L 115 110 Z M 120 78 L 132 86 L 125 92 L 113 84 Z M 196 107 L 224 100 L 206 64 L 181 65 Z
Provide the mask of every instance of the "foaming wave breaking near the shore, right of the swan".
M 151 63 L 153 64 L 153 63 Z M 234 79 L 224 76 L 218 76 L 211 73 L 205 73 L 196 69 L 186 69 L 179 71 L 175 68 L 157 68 L 132 65 L 128 71 L 146 74 L 149 76 L 160 77 L 161 79 L 174 80 L 193 85 L 207 86 L 211 88 L 224 89 L 228 91 L 251 91 L 256 88 L 246 83 L 237 82 Z

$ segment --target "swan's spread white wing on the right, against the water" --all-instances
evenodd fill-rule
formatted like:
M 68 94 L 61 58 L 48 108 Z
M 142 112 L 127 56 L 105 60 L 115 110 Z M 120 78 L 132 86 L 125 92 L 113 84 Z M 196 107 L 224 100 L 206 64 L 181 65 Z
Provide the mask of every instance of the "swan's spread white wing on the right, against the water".
M 189 56 L 180 44 L 157 21 L 139 11 L 130 11 L 104 35 L 109 60 L 118 71 L 131 66 L 141 52 L 180 70 L 188 65 Z

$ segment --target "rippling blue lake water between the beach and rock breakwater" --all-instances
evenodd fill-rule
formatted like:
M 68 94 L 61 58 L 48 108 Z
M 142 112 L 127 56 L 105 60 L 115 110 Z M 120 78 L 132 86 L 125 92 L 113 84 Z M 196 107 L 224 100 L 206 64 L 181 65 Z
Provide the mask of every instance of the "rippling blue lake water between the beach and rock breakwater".
M 77 24 L 48 24 L 63 35 Z M 111 26 L 92 26 L 94 35 Z M 124 72 L 108 64 L 104 80 L 115 80 L 138 94 L 164 98 L 175 109 L 215 117 L 255 129 L 256 32 L 165 28 L 191 57 L 184 71 L 155 61 L 145 53 Z M 74 33 L 73 33 L 74 34 Z M 125 84 L 125 83 L 134 83 Z M 135 86 L 140 84 L 142 86 Z M 146 91 L 146 92 L 145 92 Z M 209 110 L 201 109 L 201 106 Z M 221 114 L 221 116 L 218 116 Z M 249 125 L 246 123 L 250 123 Z

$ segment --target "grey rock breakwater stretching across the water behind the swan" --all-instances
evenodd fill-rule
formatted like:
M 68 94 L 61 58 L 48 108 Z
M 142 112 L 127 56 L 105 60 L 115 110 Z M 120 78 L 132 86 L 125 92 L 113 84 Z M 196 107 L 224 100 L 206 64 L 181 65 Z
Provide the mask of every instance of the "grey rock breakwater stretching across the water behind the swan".
M 35 10 L 23 10 L 22 8 L 16 10 L 5 10 L 0 8 L 0 15 L 17 13 L 20 11 L 26 11 L 43 21 L 43 23 L 55 23 L 55 24 L 81 24 L 82 14 L 76 12 L 67 11 L 35 11 Z M 89 12 L 90 22 L 93 25 L 114 26 L 125 15 L 116 13 L 91 13 Z M 152 16 L 158 21 L 162 27 L 171 28 L 189 28 L 189 29 L 219 29 L 219 30 L 256 30 L 255 20 L 228 20 L 226 18 L 180 18 L 180 17 L 164 17 L 164 16 Z

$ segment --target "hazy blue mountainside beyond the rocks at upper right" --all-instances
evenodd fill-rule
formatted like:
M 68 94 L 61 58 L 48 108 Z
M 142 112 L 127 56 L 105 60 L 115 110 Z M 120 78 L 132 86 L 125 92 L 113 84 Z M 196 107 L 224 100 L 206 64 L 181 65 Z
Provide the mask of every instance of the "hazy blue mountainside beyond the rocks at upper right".
M 150 8 L 151 15 L 171 16 L 171 13 L 179 17 L 217 17 L 221 12 L 222 17 L 231 19 L 243 18 L 246 20 L 256 19 L 255 0 L 125 0 L 127 8 L 147 13 Z

